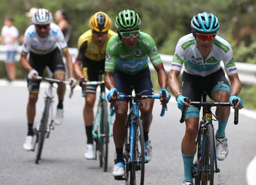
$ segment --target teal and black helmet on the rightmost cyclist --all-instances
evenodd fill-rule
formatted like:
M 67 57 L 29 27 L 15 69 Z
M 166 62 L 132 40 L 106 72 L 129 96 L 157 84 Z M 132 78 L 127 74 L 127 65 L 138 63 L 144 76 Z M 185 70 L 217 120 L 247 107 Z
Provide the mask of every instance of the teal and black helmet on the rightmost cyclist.
M 218 18 L 212 13 L 198 13 L 191 20 L 191 28 L 194 31 L 214 32 L 218 31 L 220 23 Z

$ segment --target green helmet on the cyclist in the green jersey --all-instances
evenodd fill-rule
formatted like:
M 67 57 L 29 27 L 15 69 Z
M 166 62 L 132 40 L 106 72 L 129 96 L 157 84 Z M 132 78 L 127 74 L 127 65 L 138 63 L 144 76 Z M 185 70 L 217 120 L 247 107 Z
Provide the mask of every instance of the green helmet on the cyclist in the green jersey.
M 140 18 L 133 10 L 120 11 L 116 18 L 115 24 L 117 30 L 129 30 L 140 27 Z

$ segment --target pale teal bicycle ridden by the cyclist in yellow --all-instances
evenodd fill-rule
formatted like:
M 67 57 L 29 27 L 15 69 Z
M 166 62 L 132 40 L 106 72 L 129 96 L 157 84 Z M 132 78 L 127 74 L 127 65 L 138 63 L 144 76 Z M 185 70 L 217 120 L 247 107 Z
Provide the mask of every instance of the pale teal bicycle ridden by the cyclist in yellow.
M 100 78 L 101 79 L 101 78 Z M 105 96 L 105 83 L 101 82 L 86 82 L 87 85 L 100 86 L 99 101 L 97 106 L 97 112 L 93 120 L 93 139 L 96 142 L 95 147 L 95 160 L 97 160 L 97 151 L 99 154 L 99 166 L 106 172 L 108 168 L 108 143 L 109 137 L 112 137 L 111 121 L 109 116 L 109 110 L 107 107 L 107 100 Z M 83 95 L 85 96 L 85 87 L 83 87 Z

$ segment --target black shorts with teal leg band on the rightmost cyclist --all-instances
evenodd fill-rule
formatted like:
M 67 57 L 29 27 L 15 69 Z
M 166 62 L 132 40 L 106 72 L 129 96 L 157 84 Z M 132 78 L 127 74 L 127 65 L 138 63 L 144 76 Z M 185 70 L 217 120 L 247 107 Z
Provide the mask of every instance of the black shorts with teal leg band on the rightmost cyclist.
M 203 92 L 206 92 L 213 100 L 213 93 L 219 89 L 224 89 L 230 93 L 230 86 L 222 68 L 205 77 L 186 72 L 182 74 L 182 95 L 191 101 L 201 102 Z M 201 107 L 198 106 L 198 108 Z

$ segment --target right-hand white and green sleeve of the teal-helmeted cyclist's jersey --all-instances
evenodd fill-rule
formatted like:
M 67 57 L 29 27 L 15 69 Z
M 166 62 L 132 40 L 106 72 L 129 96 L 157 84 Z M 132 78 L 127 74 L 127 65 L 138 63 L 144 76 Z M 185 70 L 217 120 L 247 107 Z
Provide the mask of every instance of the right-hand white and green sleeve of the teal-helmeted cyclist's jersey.
M 223 57 L 224 67 L 225 67 L 225 70 L 226 70 L 226 73 L 228 76 L 228 75 L 237 73 L 237 69 L 236 69 L 236 65 L 234 62 L 234 58 L 233 58 L 232 48 L 228 43 L 225 43 L 225 44 L 227 44 L 227 47 L 229 47 L 229 50 L 226 53 L 223 52 L 224 53 L 224 57 Z

